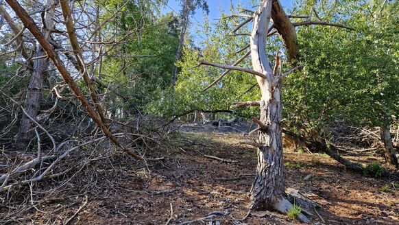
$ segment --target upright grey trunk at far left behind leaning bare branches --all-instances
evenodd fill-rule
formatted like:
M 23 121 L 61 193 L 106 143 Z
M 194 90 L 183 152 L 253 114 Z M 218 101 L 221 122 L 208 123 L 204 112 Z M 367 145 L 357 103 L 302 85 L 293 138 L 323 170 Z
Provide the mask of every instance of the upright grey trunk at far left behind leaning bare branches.
M 53 3 L 52 0 L 47 0 L 47 4 Z M 42 32 L 45 38 L 49 39 L 51 34 L 51 29 L 53 29 L 53 12 L 55 10 L 56 5 L 51 5 L 49 12 L 45 14 L 45 24 L 43 24 Z M 45 51 L 40 46 L 39 43 L 36 43 L 36 54 L 37 57 L 45 57 Z M 38 115 L 38 110 L 40 108 L 40 99 L 42 98 L 42 88 L 44 81 L 44 71 L 49 66 L 49 61 L 47 58 L 39 58 L 34 60 L 33 69 L 31 73 L 31 77 L 29 80 L 29 85 L 27 86 L 27 93 L 25 96 L 25 104 L 24 108 L 27 114 L 36 119 Z M 29 142 L 33 138 L 33 128 L 34 123 L 27 117 L 27 115 L 23 114 L 21 118 L 21 123 L 19 126 L 19 132 L 16 134 L 16 140 L 14 142 L 14 147 L 17 150 L 23 150 L 29 145 Z

